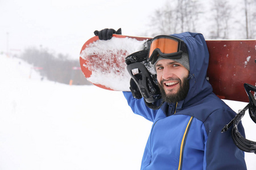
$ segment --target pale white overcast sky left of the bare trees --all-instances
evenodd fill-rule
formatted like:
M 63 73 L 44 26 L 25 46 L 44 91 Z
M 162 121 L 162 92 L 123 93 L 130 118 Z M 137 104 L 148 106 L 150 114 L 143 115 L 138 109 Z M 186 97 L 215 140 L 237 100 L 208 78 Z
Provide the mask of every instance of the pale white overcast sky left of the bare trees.
M 166 0 L 0 0 L 0 53 L 31 46 L 79 58 L 94 30 L 122 28 L 139 36 Z

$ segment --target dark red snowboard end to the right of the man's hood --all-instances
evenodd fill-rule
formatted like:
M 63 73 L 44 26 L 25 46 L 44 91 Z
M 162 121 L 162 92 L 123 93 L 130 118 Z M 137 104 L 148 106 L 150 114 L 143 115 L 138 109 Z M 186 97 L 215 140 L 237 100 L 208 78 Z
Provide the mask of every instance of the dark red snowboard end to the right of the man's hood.
M 221 99 L 249 101 L 244 83 L 256 85 L 256 40 L 208 40 L 207 76 Z

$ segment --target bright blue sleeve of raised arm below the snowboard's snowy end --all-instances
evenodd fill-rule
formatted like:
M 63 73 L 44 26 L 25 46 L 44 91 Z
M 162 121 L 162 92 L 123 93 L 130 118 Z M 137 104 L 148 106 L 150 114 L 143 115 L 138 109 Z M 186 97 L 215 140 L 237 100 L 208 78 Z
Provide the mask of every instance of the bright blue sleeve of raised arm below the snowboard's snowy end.
M 156 112 L 153 109 L 150 109 L 144 103 L 144 99 L 135 99 L 131 92 L 123 91 L 123 95 L 125 96 L 128 105 L 131 107 L 131 110 L 140 116 L 143 116 L 147 120 L 154 122 Z

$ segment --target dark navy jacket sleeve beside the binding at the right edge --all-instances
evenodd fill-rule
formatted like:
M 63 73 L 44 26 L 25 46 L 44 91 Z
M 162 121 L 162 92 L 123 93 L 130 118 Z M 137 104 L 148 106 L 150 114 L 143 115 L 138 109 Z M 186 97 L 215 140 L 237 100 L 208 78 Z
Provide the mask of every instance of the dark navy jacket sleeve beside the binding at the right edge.
M 246 169 L 244 152 L 234 144 L 232 128 L 221 133 L 221 129 L 234 118 L 235 114 L 231 109 L 218 109 L 204 122 L 207 133 L 204 169 Z M 241 122 L 238 129 L 245 136 Z

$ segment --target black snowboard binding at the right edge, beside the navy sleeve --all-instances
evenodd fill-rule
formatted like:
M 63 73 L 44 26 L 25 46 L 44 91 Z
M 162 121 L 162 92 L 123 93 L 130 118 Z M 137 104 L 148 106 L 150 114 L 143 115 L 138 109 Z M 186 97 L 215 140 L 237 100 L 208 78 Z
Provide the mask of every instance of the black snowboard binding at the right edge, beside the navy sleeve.
M 240 111 L 236 115 L 236 117 L 234 117 L 233 120 L 229 122 L 228 125 L 225 125 L 221 132 L 227 131 L 233 124 L 232 138 L 237 147 L 240 148 L 242 151 L 254 152 L 254 154 L 256 154 L 256 142 L 249 141 L 248 139 L 243 137 L 238 130 L 238 124 L 241 121 L 242 117 L 245 115 L 245 111 L 247 111 L 247 109 L 249 109 L 251 120 L 253 120 L 256 124 L 256 100 L 255 95 L 251 94 L 251 92 L 254 92 L 255 94 L 256 87 L 251 86 L 247 83 L 243 84 L 243 86 L 245 87 L 245 91 L 249 97 L 249 104 L 247 104 L 246 107 L 243 108 L 242 111 Z

